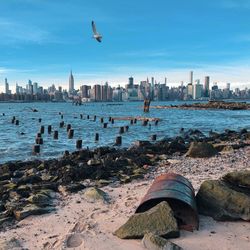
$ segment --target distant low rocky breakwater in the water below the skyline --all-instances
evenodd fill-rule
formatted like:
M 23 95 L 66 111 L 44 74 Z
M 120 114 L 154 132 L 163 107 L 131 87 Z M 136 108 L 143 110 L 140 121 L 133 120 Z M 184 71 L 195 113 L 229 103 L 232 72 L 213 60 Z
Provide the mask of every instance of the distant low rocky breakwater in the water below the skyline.
M 209 101 L 208 103 L 192 103 L 170 106 L 152 106 L 156 109 L 228 109 L 228 110 L 250 110 L 250 103 L 246 102 L 224 102 Z

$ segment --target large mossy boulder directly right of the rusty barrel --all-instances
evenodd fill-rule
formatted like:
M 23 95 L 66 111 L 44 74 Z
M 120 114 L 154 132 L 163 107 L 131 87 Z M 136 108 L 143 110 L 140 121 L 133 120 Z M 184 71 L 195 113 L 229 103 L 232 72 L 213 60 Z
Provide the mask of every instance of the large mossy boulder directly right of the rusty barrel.
M 215 220 L 250 220 L 250 196 L 229 188 L 222 181 L 204 181 L 196 202 L 200 214 Z

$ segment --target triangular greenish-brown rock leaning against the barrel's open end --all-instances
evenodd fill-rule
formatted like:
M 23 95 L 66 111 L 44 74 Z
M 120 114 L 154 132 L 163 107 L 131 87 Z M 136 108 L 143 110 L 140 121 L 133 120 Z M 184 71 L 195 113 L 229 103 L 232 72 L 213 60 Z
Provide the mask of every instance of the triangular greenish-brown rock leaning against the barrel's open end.
M 166 238 L 179 237 L 174 213 L 166 201 L 144 213 L 132 215 L 114 234 L 121 239 L 138 239 L 149 232 Z

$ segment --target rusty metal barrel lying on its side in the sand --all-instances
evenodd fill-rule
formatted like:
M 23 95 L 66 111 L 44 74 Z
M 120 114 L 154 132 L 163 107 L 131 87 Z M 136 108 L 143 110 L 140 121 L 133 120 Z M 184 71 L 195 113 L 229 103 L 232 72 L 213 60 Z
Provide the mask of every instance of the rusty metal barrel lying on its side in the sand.
M 199 228 L 199 219 L 192 184 L 183 176 L 167 173 L 157 177 L 136 209 L 142 213 L 162 201 L 167 201 L 180 229 Z

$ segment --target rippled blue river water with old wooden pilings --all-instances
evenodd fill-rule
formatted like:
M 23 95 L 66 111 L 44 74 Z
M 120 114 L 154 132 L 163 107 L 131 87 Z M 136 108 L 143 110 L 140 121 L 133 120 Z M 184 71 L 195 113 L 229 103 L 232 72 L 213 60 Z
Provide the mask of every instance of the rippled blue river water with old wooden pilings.
M 61 156 L 65 150 L 75 150 L 77 139 L 83 140 L 83 147 L 111 146 L 119 133 L 119 127 L 129 125 L 130 121 L 115 121 L 114 124 L 109 123 L 107 129 L 103 129 L 100 117 L 104 117 L 105 122 L 108 122 L 110 116 L 146 116 L 161 119 L 158 126 L 152 123 L 151 129 L 141 126 L 141 122 L 131 125 L 129 131 L 122 136 L 122 146 L 125 147 L 136 140 L 147 140 L 152 134 L 157 134 L 157 139 L 177 135 L 181 127 L 197 128 L 205 133 L 211 129 L 219 132 L 225 128 L 250 129 L 250 111 L 151 109 L 150 113 L 144 114 L 141 102 L 113 104 L 88 103 L 73 106 L 71 103 L 0 103 L 0 162 Z M 32 112 L 31 108 L 36 108 L 39 112 Z M 64 115 L 65 125 L 72 125 L 73 139 L 67 139 L 66 127 L 59 128 L 62 121 L 59 112 Z M 5 116 L 2 113 L 5 113 Z M 83 114 L 84 119 L 80 119 L 80 114 Z M 87 115 L 90 115 L 90 120 L 86 119 Z M 97 116 L 96 122 L 91 121 L 94 115 Z M 13 116 L 20 121 L 19 126 L 11 123 Z M 41 123 L 38 122 L 39 118 L 42 119 Z M 41 125 L 45 125 L 44 144 L 41 146 L 40 155 L 33 156 L 32 145 Z M 52 130 L 59 131 L 58 140 L 53 139 L 53 133 L 48 134 L 48 125 L 52 125 Z M 21 135 L 22 132 L 24 135 Z M 100 135 L 98 143 L 94 141 L 95 133 Z

